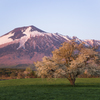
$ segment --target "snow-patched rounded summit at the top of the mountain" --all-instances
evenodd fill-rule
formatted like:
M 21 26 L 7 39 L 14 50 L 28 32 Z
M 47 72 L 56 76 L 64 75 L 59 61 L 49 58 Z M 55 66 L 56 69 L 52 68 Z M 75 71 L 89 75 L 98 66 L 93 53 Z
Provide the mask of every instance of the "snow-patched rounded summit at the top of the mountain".
M 31 25 L 31 26 L 24 26 L 18 27 L 13 29 L 12 31 L 8 32 L 7 34 L 0 37 L 0 45 L 12 42 L 15 39 L 29 38 L 30 36 L 42 35 L 42 33 L 46 33 L 45 31 Z

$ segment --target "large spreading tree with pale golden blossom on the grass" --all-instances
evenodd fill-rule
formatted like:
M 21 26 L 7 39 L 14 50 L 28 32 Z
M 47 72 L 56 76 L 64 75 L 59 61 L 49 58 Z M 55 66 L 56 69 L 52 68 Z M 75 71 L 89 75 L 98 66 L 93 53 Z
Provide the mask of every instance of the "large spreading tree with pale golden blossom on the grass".
M 52 53 L 52 57 L 43 57 L 41 62 L 35 62 L 38 76 L 65 77 L 71 85 L 75 85 L 76 77 L 86 70 L 88 71 L 86 74 L 99 74 L 96 66 L 91 66 L 98 59 L 97 52 L 85 48 L 84 44 L 77 44 L 74 41 L 65 42 Z

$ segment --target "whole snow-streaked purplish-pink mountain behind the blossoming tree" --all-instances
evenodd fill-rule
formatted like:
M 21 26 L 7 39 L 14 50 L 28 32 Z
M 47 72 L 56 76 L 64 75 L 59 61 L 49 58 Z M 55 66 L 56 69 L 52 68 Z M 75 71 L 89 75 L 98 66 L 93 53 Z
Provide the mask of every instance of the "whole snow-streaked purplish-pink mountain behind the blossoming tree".
M 54 49 L 72 39 L 77 43 L 84 42 L 86 46 L 100 46 L 97 40 L 82 41 L 77 37 L 47 33 L 34 26 L 21 27 L 0 37 L 0 64 L 32 64 L 43 56 L 51 56 Z

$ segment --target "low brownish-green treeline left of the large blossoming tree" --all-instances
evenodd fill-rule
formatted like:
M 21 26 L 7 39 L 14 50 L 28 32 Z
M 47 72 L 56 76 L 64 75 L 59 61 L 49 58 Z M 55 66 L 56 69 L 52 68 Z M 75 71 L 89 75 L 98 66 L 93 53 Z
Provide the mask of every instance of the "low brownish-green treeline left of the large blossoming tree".
M 35 71 L 26 69 L 0 68 L 0 79 L 36 78 Z

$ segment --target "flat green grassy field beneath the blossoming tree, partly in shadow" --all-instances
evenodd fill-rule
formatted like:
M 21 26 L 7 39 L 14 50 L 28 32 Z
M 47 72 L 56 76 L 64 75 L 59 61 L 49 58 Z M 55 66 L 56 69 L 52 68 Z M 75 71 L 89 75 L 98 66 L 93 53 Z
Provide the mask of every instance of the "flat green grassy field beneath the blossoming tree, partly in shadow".
M 0 100 L 100 100 L 100 78 L 3 80 Z

